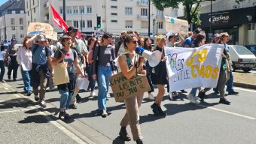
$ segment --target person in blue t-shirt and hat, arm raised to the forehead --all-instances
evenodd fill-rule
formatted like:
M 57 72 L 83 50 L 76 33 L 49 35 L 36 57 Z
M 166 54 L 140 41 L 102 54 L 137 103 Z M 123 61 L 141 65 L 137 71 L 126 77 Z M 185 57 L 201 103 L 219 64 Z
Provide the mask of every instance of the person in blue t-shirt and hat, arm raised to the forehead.
M 35 40 L 35 43 L 33 41 Z M 51 51 L 46 46 L 46 37 L 44 34 L 34 35 L 26 41 L 26 46 L 32 47 L 32 70 L 31 86 L 35 95 L 35 101 L 39 101 L 41 107 L 46 107 L 44 102 L 47 89 L 47 80 L 53 77 L 53 67 L 51 65 Z M 40 90 L 38 87 L 40 86 Z M 39 94 L 39 97 L 38 97 Z

